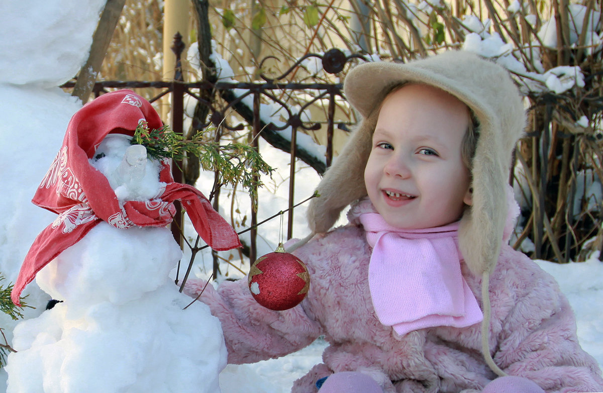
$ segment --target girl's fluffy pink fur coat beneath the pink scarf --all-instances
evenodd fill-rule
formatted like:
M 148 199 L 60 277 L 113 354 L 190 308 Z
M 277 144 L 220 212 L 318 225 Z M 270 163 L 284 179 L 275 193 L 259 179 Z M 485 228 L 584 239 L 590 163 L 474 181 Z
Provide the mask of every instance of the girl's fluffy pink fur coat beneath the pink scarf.
M 265 309 L 247 280 L 207 286 L 201 300 L 222 322 L 229 363 L 253 363 L 300 350 L 323 335 L 323 363 L 294 383 L 292 392 L 316 392 L 315 382 L 338 371 L 361 371 L 385 392 L 476 393 L 496 375 L 481 354 L 480 324 L 435 327 L 404 336 L 377 319 L 367 282 L 371 249 L 362 227 L 336 228 L 295 251 L 308 266 L 311 285 L 293 309 Z M 481 277 L 461 262 L 481 306 Z M 201 281 L 186 292 L 196 296 Z M 575 317 L 554 278 L 508 245 L 490 278 L 490 351 L 497 365 L 546 392 L 601 392 L 595 359 L 576 338 Z

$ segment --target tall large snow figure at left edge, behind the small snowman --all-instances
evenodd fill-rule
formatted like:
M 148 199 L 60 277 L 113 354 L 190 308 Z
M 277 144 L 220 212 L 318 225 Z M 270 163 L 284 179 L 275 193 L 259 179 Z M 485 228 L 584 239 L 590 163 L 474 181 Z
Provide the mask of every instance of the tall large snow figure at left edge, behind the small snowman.
M 56 215 L 31 203 L 61 145 L 78 99 L 58 84 L 72 78 L 89 52 L 104 0 L 3 1 L 0 7 L 0 272 L 16 280 L 28 248 Z M 24 292 L 25 318 L 49 300 L 36 285 Z M 0 313 L 10 344 L 16 324 Z M 0 381 L 6 375 L 0 370 Z

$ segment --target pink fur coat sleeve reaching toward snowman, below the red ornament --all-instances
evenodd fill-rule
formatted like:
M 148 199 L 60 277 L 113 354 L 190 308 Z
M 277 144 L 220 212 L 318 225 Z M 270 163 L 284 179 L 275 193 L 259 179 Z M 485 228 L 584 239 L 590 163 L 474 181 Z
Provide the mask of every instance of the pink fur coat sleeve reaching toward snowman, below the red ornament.
M 197 297 L 205 284 L 189 280 L 185 293 Z M 207 285 L 200 300 L 220 320 L 232 364 L 284 356 L 308 346 L 321 334 L 300 305 L 285 311 L 260 306 L 251 296 L 247 280 L 224 281 L 218 289 Z

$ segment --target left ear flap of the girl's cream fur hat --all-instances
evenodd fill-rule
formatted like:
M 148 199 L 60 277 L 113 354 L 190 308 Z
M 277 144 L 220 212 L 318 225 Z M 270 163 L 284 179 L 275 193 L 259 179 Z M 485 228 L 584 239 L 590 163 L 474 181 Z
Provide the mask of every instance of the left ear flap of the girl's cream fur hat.
M 318 184 L 320 197 L 314 198 L 308 207 L 308 224 L 312 232 L 328 231 L 346 206 L 367 195 L 364 168 L 371 152 L 378 114 L 375 111 L 353 131 L 343 151 Z

